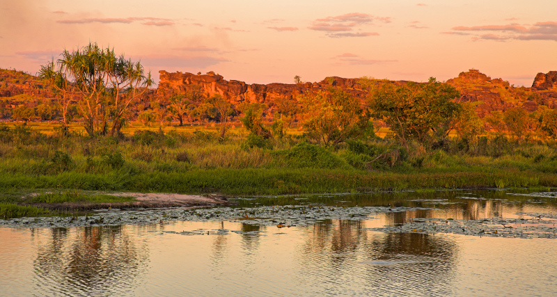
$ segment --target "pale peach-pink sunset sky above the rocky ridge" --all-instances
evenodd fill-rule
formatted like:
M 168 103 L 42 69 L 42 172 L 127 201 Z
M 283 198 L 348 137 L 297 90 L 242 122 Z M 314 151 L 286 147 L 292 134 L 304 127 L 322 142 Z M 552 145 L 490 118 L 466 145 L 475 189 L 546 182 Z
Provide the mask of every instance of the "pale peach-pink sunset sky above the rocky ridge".
M 0 0 L 0 67 L 36 74 L 90 41 L 159 70 L 246 83 L 427 81 L 557 70 L 557 1 Z

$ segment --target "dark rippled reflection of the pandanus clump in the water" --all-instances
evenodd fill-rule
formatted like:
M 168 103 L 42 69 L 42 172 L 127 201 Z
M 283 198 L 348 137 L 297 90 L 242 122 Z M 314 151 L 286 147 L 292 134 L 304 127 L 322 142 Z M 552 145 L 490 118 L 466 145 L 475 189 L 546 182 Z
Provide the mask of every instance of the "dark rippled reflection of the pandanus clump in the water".
M 126 290 L 146 270 L 146 246 L 133 241 L 122 226 L 53 228 L 49 232 L 47 239 L 34 239 L 38 253 L 33 264 L 38 287 L 56 290 L 55 295 Z

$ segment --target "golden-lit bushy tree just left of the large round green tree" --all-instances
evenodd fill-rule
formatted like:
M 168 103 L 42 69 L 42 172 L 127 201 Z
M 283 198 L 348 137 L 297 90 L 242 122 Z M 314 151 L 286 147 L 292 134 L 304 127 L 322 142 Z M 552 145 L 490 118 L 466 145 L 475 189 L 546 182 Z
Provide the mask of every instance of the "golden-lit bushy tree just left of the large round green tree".
M 370 114 L 362 109 L 359 99 L 343 90 L 306 93 L 299 101 L 305 106 L 304 128 L 316 143 L 338 145 L 373 131 Z

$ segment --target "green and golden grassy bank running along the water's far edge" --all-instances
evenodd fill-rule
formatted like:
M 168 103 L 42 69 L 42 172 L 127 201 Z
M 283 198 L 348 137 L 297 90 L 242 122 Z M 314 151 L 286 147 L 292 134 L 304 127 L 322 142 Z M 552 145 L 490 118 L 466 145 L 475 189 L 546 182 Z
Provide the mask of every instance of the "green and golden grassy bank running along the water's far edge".
M 1 128 L 1 127 L 0 127 Z M 372 138 L 336 147 L 288 134 L 138 130 L 124 138 L 0 129 L 0 191 L 77 189 L 276 195 L 408 188 L 557 186 L 557 152 L 502 138 L 438 150 Z M 77 198 L 76 198 L 77 199 Z

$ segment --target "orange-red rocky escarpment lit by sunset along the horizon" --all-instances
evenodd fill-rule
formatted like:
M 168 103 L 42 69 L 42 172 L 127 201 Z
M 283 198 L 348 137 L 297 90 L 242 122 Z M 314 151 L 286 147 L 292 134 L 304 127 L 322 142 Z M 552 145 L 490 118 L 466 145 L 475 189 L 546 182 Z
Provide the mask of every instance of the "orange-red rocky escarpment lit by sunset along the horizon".
M 327 90 L 329 87 L 343 88 L 343 90 L 361 98 L 366 97 L 360 79 L 345 79 L 342 77 L 326 77 L 319 82 L 305 83 L 269 83 L 247 84 L 243 81 L 225 80 L 221 75 L 214 72 L 207 74 L 191 74 L 175 72 L 169 73 L 159 71 L 160 82 L 156 90 L 152 90 L 140 102 L 132 107 L 133 118 L 143 112 L 150 111 L 152 102 L 192 87 L 201 88 L 205 95 L 220 94 L 233 104 L 265 103 L 268 106 L 267 113 L 273 114 L 277 104 L 283 99 L 295 99 L 297 95 L 305 92 L 316 92 Z M 391 83 L 402 84 L 407 81 L 391 81 Z M 529 112 L 547 106 L 549 109 L 557 109 L 557 72 L 547 74 L 538 73 L 531 88 L 515 88 L 503 79 L 491 79 L 479 70 L 461 72 L 458 77 L 449 79 L 450 83 L 460 91 L 460 102 L 478 102 L 476 112 L 480 118 L 491 114 L 493 111 L 505 111 L 510 108 L 521 108 Z M 25 106 L 29 109 L 36 108 L 39 104 L 52 104 L 54 106 L 54 95 L 45 88 L 38 77 L 16 70 L 0 69 L 0 117 L 9 120 L 12 111 Z

